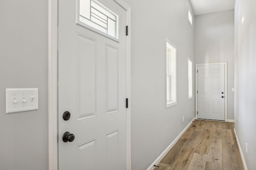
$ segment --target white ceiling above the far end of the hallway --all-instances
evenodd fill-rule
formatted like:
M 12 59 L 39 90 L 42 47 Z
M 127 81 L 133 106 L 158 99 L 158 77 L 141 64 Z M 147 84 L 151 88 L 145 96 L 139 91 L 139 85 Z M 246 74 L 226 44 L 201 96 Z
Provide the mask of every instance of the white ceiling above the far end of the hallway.
M 235 0 L 189 0 L 195 15 L 234 9 Z

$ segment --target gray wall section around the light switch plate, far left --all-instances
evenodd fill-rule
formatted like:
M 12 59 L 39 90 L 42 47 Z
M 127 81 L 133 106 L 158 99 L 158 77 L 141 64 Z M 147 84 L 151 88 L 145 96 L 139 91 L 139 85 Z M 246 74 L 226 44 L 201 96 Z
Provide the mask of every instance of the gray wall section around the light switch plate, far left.
M 0 169 L 48 169 L 48 1 L 0 3 Z M 39 109 L 5 113 L 6 88 L 38 88 Z

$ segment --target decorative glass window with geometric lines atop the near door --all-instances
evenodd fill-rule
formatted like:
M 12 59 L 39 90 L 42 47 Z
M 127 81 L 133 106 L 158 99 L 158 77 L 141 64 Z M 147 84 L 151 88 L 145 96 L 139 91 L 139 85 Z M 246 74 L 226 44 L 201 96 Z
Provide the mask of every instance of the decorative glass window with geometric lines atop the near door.
M 118 15 L 96 0 L 77 0 L 76 23 L 118 39 Z

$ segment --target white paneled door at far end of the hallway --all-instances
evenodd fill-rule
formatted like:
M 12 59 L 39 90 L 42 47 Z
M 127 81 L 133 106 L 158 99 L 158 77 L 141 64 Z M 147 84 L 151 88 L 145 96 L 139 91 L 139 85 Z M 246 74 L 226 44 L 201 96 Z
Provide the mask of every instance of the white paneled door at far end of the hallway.
M 225 120 L 225 64 L 200 65 L 197 75 L 198 119 Z

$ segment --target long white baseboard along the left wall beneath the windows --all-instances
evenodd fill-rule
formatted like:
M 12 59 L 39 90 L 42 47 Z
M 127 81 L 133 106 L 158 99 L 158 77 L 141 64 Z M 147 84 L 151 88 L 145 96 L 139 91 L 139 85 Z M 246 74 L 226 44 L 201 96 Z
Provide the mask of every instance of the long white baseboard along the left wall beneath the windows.
M 194 121 L 196 119 L 196 117 L 194 117 L 194 119 L 192 119 L 192 121 Z M 164 152 L 162 152 L 158 158 L 156 158 L 156 160 L 148 167 L 147 170 L 154 170 L 154 165 L 157 165 L 162 158 L 164 158 L 164 156 L 169 152 L 170 149 L 172 149 L 172 147 L 175 145 L 175 143 L 180 139 L 180 137 L 183 135 L 183 133 L 188 129 L 188 127 L 192 124 L 192 121 L 190 121 L 190 123 L 188 123 L 188 125 L 180 132 L 180 134 L 174 139 L 174 141 L 172 141 L 172 143 L 164 150 Z

